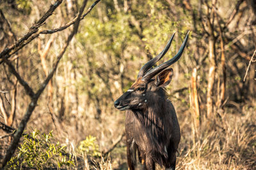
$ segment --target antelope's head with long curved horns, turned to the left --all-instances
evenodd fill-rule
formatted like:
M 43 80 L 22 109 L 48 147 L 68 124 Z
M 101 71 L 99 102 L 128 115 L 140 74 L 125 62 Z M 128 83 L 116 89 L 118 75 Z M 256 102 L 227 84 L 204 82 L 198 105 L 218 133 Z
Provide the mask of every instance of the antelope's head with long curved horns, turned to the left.
M 159 89 L 163 89 L 163 87 L 166 87 L 166 85 L 170 83 L 172 80 L 173 69 L 168 67 L 180 59 L 180 56 L 182 55 L 188 41 L 189 32 L 186 35 L 179 52 L 172 59 L 160 64 L 157 67 L 153 68 L 153 66 L 170 48 L 174 34 L 168 41 L 164 50 L 159 53 L 159 55 L 148 61 L 143 67 L 141 67 L 137 80 L 131 85 L 127 92 L 125 92 L 115 101 L 115 108 L 118 110 L 142 110 L 145 108 L 145 106 L 147 106 L 150 98 L 157 97 L 157 94 L 154 92 Z M 154 79 L 154 76 L 156 75 L 157 77 Z

